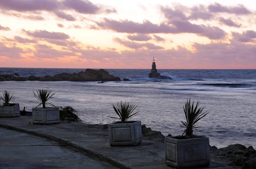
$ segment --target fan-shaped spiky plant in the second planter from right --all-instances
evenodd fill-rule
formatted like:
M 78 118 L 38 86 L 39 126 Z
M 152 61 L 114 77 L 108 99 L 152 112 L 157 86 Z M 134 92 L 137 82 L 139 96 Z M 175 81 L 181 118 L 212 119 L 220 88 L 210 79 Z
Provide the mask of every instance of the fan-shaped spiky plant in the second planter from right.
M 116 106 L 114 104 L 112 104 L 116 114 L 119 116 L 119 120 L 122 121 L 122 123 L 125 123 L 125 121 L 127 121 L 128 119 L 134 117 L 135 115 L 137 115 L 137 113 L 139 113 L 140 111 L 133 113 L 133 111 L 136 109 L 137 106 L 135 106 L 134 104 L 132 104 L 132 102 L 130 103 L 129 101 L 120 101 L 120 102 L 116 102 Z M 110 116 L 108 116 L 110 117 Z M 111 118 L 117 118 L 117 117 L 111 117 Z

